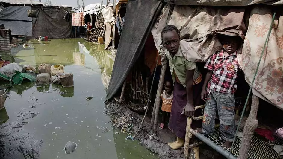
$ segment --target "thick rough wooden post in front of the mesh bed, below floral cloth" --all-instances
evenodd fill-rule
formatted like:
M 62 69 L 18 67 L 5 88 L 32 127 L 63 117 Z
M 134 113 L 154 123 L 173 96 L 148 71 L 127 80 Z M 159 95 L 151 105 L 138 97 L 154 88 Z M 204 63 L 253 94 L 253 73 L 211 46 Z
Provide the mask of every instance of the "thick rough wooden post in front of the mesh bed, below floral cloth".
M 249 145 L 252 141 L 252 134 L 258 126 L 258 120 L 256 119 L 258 113 L 258 104 L 259 98 L 253 94 L 251 111 L 244 127 L 243 139 L 238 159 L 246 159 L 248 157 Z

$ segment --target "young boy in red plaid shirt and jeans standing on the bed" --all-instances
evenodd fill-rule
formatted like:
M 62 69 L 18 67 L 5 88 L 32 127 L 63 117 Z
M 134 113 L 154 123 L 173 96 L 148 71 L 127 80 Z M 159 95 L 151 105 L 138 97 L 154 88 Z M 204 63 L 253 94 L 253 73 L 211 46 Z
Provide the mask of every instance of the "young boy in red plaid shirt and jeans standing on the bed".
M 202 100 L 206 101 L 202 129 L 196 129 L 203 134 L 212 134 L 215 126 L 215 113 L 218 110 L 220 132 L 226 141 L 224 147 L 229 149 L 236 133 L 235 127 L 235 99 L 237 89 L 237 71 L 239 63 L 237 49 L 240 46 L 239 36 L 219 36 L 223 50 L 214 53 L 206 62 L 208 69 L 202 87 Z

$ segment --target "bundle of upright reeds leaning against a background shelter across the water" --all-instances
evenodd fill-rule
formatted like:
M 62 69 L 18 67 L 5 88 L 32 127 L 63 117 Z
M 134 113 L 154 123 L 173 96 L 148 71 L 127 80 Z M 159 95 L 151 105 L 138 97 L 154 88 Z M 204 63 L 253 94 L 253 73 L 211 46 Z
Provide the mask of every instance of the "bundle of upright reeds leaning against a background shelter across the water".
M 102 13 L 99 12 L 95 26 L 91 29 L 91 36 L 89 37 L 88 41 L 90 42 L 97 42 L 98 37 L 102 37 L 104 39 L 105 36 L 105 22 L 102 16 Z

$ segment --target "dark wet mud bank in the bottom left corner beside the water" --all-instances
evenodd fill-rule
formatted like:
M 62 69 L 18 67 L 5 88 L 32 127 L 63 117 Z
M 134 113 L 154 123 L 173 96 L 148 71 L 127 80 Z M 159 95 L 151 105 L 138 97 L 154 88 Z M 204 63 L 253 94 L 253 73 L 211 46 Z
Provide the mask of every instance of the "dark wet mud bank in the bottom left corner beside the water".
M 18 113 L 18 119 L 0 126 L 0 158 L 39 158 L 43 141 L 25 129 L 27 120 L 36 117 L 37 112 L 24 111 Z M 23 155 L 24 154 L 24 155 Z

